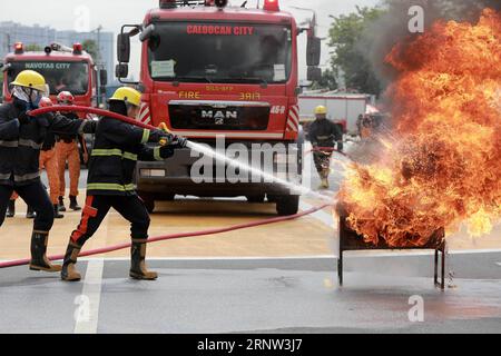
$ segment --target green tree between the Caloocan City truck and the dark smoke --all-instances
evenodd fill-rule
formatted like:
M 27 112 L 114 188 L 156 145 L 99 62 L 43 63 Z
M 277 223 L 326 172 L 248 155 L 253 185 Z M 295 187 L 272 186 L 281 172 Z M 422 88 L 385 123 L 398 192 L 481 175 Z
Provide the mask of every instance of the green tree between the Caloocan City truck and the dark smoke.
M 334 49 L 332 72 L 344 73 L 346 89 L 380 95 L 382 83 L 371 63 L 365 59 L 360 42 L 367 30 L 382 14 L 380 8 L 356 8 L 355 12 L 334 17 L 330 29 L 330 43 Z

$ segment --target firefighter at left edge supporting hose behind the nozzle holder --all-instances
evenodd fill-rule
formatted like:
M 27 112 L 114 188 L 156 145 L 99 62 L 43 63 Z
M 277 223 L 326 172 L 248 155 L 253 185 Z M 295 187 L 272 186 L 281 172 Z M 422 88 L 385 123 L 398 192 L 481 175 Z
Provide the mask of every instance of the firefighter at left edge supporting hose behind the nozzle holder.
M 40 180 L 40 148 L 48 130 L 60 134 L 92 132 L 92 121 L 72 121 L 61 116 L 31 117 L 39 107 L 47 86 L 32 70 L 21 71 L 11 83 L 12 103 L 0 106 L 0 226 L 12 192 L 36 211 L 31 235 L 30 269 L 60 271 L 47 258 L 49 231 L 53 225 L 53 206 Z

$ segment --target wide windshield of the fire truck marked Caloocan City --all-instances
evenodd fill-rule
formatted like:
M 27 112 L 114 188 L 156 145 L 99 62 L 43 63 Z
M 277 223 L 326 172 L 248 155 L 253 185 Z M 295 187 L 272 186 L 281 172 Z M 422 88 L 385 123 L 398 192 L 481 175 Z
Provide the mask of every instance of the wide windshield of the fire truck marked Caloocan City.
M 292 30 L 281 24 L 159 22 L 148 42 L 154 80 L 284 83 Z

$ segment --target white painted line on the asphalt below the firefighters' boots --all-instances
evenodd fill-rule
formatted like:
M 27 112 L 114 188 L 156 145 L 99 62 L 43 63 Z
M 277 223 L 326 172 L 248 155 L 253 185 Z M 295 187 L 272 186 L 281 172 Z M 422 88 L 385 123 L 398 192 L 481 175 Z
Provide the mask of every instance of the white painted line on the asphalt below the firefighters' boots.
M 89 260 L 87 265 L 82 289 L 85 301 L 80 304 L 80 308 L 86 309 L 76 315 L 75 334 L 97 334 L 104 267 L 104 258 Z

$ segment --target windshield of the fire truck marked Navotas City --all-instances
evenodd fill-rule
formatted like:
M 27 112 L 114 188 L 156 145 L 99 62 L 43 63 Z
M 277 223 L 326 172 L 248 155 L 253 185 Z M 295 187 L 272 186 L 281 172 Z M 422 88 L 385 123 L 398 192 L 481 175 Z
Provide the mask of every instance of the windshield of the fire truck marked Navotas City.
M 70 91 L 72 95 L 82 96 L 89 91 L 89 67 L 88 62 L 65 61 L 12 61 L 8 71 L 8 83 L 10 85 L 19 72 L 30 69 L 39 72 L 46 78 L 51 95 L 61 91 Z

